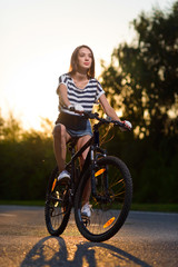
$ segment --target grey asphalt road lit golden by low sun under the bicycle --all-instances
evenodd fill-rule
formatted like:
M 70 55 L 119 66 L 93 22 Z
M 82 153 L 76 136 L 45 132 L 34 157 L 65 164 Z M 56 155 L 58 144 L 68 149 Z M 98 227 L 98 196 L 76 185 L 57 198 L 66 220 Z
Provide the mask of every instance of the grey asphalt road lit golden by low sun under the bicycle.
M 131 211 L 105 243 L 87 241 L 70 220 L 49 236 L 41 207 L 0 206 L 0 267 L 178 266 L 178 214 Z

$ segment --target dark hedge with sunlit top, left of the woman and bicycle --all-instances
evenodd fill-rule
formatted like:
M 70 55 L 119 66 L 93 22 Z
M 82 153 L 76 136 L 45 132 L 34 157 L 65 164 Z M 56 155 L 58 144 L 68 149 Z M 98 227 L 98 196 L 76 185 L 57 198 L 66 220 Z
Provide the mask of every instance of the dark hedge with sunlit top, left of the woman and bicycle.
M 43 119 L 46 131 L 27 131 L 12 113 L 8 119 L 0 117 L 0 198 L 44 199 L 48 178 L 56 165 L 52 123 Z

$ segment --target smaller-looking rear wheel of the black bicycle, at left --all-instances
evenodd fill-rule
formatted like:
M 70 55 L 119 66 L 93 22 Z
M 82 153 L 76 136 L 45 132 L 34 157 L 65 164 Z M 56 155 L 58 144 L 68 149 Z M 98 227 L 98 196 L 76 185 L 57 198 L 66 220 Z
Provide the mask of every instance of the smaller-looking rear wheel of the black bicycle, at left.
M 46 195 L 44 218 L 50 235 L 59 236 L 67 227 L 71 204 L 69 186 L 57 181 L 58 167 L 53 169 L 49 179 Z

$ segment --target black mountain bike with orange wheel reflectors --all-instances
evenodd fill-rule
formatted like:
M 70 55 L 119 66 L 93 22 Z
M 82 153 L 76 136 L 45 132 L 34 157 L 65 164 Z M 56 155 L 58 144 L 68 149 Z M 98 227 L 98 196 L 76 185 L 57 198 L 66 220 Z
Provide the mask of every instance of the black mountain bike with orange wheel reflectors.
M 125 127 L 122 122 L 100 118 L 98 113 L 85 117 L 96 119 L 93 135 L 87 144 L 76 151 L 76 139 L 68 144 L 71 159 L 66 165 L 70 172 L 70 182 L 57 180 L 56 167 L 50 176 L 44 206 L 47 229 L 50 235 L 61 235 L 69 221 L 71 209 L 80 234 L 90 241 L 105 241 L 111 238 L 125 224 L 131 206 L 132 180 L 126 164 L 113 156 L 108 156 L 99 145 L 99 127 L 105 123 Z M 79 157 L 89 147 L 83 167 L 80 169 Z M 89 180 L 89 181 L 88 181 Z M 86 184 L 91 182 L 91 217 L 82 216 Z

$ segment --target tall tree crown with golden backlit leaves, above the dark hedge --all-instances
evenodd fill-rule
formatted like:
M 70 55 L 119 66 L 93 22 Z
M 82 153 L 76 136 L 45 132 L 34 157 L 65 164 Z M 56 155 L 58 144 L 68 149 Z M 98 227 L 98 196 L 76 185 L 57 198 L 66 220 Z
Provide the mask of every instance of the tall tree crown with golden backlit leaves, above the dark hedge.
M 178 134 L 178 1 L 164 13 L 152 9 L 132 21 L 136 39 L 113 50 L 102 86 L 112 105 L 134 121 L 141 138 Z

